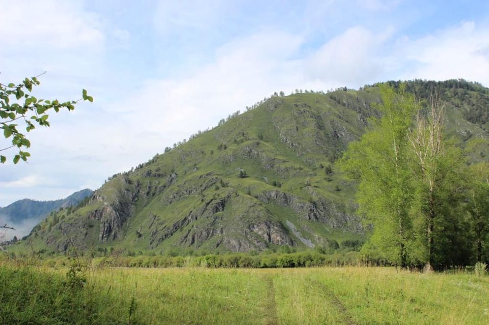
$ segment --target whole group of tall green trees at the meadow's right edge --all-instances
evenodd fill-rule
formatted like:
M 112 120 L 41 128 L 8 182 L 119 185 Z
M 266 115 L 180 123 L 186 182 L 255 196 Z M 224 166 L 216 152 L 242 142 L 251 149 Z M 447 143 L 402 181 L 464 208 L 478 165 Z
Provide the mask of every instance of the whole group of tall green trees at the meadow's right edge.
M 381 119 L 350 143 L 340 166 L 359 181 L 357 199 L 373 225 L 372 258 L 426 270 L 489 259 L 489 164 L 470 165 L 443 134 L 443 106 L 381 85 Z

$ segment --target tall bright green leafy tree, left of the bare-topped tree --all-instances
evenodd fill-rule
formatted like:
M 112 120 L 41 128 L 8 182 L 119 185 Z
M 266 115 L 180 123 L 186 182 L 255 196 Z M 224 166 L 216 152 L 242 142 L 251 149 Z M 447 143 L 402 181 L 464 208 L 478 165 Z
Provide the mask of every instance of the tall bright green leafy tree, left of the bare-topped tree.
M 370 245 L 402 268 L 408 266 L 413 235 L 410 216 L 414 199 L 408 131 L 418 109 L 414 96 L 388 85 L 380 86 L 381 119 L 360 141 L 351 142 L 340 166 L 359 182 L 360 212 L 373 225 Z

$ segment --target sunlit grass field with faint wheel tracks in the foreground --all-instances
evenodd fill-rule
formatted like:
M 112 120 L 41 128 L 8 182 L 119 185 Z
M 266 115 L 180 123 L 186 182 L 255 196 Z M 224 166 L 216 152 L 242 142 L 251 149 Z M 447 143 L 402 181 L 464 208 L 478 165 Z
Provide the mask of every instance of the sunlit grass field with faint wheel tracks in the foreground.
M 0 323 L 489 323 L 489 277 L 464 272 L 91 269 L 74 291 L 63 282 L 66 270 L 23 270 L 0 267 Z

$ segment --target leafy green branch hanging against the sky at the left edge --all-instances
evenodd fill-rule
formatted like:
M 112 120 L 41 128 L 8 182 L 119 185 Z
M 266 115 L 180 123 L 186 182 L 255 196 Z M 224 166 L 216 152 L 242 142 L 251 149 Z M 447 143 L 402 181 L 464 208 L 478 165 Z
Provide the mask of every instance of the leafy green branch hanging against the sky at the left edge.
M 36 125 L 49 127 L 47 111 L 52 109 L 59 112 L 62 108 L 71 111 L 75 109 L 74 105 L 79 101 L 93 102 L 93 97 L 88 96 L 85 89 L 82 91 L 82 98 L 78 100 L 60 102 L 57 99 L 37 99 L 31 95 L 31 92 L 34 86 L 40 84 L 37 78 L 44 73 L 36 77 L 25 78 L 18 84 L 0 83 L 0 129 L 3 130 L 5 139 L 11 139 L 11 144 L 0 147 L 0 152 L 16 147 L 18 153 L 13 157 L 14 164 L 18 163 L 20 159 L 27 161 L 28 157 L 31 156 L 26 151 L 31 146 L 31 142 L 19 131 L 20 124 L 23 124 L 26 132 L 35 129 Z M 7 157 L 0 155 L 0 163 L 6 161 Z

